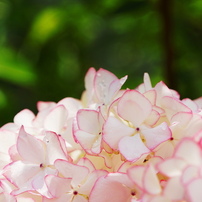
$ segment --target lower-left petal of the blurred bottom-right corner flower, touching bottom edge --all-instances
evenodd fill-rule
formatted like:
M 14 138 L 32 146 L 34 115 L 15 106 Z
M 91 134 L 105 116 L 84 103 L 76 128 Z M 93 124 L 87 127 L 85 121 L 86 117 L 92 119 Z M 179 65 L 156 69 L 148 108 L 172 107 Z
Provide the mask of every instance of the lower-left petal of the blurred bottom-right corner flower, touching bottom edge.
M 170 178 L 163 190 L 163 195 L 171 199 L 171 201 L 183 201 L 185 189 L 182 186 L 179 177 Z

